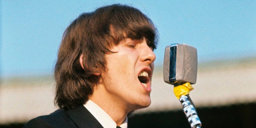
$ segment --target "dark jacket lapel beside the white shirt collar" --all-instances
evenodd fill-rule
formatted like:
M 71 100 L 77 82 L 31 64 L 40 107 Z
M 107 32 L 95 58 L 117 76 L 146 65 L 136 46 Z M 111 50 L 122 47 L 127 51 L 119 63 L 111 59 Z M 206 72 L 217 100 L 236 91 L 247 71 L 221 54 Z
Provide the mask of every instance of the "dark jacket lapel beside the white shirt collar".
M 99 121 L 83 105 L 67 110 L 66 113 L 79 128 L 103 128 Z

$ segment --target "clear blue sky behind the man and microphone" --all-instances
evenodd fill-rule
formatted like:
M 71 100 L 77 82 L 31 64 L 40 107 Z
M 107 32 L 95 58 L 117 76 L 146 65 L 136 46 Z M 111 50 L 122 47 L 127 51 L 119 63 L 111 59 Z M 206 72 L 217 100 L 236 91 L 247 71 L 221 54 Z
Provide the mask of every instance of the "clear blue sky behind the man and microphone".
M 1 0 L 0 76 L 53 73 L 71 21 L 114 3 L 140 9 L 157 26 L 157 66 L 173 43 L 196 47 L 199 63 L 256 57 L 255 0 Z

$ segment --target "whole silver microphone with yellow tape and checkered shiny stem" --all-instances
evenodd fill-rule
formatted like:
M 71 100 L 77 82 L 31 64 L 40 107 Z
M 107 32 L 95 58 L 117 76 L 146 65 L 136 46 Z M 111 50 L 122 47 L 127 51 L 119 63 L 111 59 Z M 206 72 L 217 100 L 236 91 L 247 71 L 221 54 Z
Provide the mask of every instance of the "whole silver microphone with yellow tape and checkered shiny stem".
M 166 46 L 163 60 L 163 81 L 179 86 L 190 86 L 196 84 L 197 77 L 197 50 L 187 44 L 171 44 Z M 182 88 L 183 88 L 182 87 Z M 192 90 L 190 86 L 189 90 Z M 178 89 L 179 93 L 182 89 Z M 197 115 L 195 106 L 189 97 L 189 90 L 177 96 L 183 107 L 191 128 L 201 128 L 201 121 Z

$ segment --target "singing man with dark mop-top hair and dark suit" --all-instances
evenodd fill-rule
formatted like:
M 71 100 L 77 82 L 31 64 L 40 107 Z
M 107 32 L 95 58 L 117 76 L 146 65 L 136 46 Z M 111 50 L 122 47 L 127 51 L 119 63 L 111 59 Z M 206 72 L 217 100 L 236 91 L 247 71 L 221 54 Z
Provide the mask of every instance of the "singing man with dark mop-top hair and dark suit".
M 157 32 L 141 11 L 114 4 L 83 13 L 64 32 L 54 113 L 24 127 L 126 128 L 151 103 Z

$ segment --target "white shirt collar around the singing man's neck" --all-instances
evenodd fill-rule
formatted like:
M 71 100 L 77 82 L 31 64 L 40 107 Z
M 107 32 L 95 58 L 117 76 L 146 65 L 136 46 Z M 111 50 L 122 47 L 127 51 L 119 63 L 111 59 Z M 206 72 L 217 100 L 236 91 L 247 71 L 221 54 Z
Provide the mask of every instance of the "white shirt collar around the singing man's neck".
M 104 111 L 100 108 L 97 104 L 95 104 L 90 99 L 84 104 L 86 109 L 99 121 L 99 123 L 104 128 L 116 128 L 117 124 L 115 121 Z M 120 125 L 121 128 L 127 128 L 128 126 L 128 118 L 126 117 L 123 124 Z

